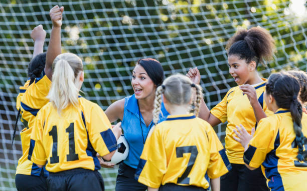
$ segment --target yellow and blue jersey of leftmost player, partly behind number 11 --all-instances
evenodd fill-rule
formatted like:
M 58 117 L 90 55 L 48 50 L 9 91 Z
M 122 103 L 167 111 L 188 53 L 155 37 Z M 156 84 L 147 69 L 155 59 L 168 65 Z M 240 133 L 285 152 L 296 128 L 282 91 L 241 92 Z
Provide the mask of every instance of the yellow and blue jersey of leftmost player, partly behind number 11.
M 21 108 L 21 121 L 25 128 L 20 133 L 23 155 L 18 160 L 16 174 L 37 176 L 41 174 L 42 168 L 39 168 L 27 158 L 30 147 L 30 135 L 36 114 L 40 108 L 49 102 L 46 96 L 49 93 L 52 82 L 45 75 L 44 71 L 42 73 L 42 76 L 37 77 L 32 84 L 29 85 L 30 80 L 28 80 L 23 87 L 20 87 L 20 94 L 17 98 L 17 107 L 20 106 Z M 44 175 L 48 176 L 46 170 L 44 170 Z

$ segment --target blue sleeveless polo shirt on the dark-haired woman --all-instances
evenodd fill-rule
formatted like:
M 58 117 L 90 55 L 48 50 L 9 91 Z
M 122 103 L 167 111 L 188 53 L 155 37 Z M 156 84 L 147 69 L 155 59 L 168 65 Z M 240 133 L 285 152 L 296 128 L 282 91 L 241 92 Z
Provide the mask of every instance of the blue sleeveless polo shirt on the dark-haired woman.
M 169 112 L 165 109 L 164 103 L 161 105 L 161 110 L 163 115 L 160 113 L 160 120 L 158 122 L 164 121 L 169 115 Z M 140 126 L 139 118 L 141 120 L 142 126 Z M 137 168 L 139 157 L 144 147 L 143 139 L 145 140 L 150 126 L 151 128 L 154 126 L 153 121 L 151 121 L 150 124 L 146 126 L 143 117 L 139 117 L 139 110 L 135 95 L 133 94 L 125 97 L 121 128 L 123 129 L 124 136 L 129 143 L 129 153 L 127 158 L 124 160 L 124 163 L 132 168 Z M 141 133 L 142 131 L 143 136 Z

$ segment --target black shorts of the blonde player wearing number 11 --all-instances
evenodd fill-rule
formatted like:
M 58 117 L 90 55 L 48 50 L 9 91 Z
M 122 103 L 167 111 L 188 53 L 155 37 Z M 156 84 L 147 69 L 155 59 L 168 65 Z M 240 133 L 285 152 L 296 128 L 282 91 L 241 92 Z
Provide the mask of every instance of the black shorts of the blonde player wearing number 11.
M 104 183 L 101 174 L 97 170 L 75 168 L 57 173 L 49 172 L 47 178 L 50 191 L 101 191 Z

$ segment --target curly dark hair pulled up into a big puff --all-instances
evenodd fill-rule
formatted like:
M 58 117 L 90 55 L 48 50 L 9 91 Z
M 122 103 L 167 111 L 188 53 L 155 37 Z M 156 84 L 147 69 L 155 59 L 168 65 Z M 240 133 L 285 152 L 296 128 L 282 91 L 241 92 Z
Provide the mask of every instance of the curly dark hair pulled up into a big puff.
M 268 30 L 261 27 L 252 27 L 248 30 L 241 29 L 236 32 L 227 42 L 228 56 L 236 55 L 251 61 L 263 63 L 272 59 L 275 52 L 275 42 Z

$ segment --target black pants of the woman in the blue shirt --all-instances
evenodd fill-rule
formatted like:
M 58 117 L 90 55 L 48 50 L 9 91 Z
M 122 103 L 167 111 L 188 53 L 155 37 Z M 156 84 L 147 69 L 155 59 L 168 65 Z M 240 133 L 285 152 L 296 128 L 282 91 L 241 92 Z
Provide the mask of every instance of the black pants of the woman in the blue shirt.
M 119 164 L 116 177 L 116 191 L 145 191 L 147 186 L 134 179 L 135 168 L 125 163 Z

